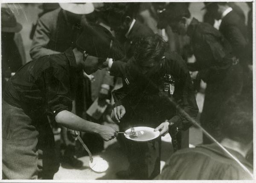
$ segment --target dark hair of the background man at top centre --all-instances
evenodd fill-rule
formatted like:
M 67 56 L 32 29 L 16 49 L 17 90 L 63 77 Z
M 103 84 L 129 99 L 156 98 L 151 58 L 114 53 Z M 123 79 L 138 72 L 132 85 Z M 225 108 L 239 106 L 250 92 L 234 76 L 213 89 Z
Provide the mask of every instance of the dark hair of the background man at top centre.
M 129 16 L 134 18 L 138 12 L 140 3 L 104 3 L 100 9 L 105 15 L 123 18 Z

